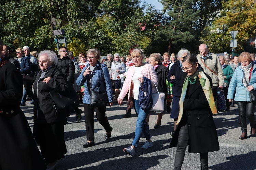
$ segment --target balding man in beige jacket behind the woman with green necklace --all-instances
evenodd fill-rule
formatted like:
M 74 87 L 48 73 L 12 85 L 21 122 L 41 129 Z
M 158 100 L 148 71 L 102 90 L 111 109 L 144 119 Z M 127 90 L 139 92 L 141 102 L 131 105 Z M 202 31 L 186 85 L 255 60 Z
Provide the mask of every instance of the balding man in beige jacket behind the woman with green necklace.
M 221 62 L 219 62 L 219 57 L 216 54 L 211 54 L 206 44 L 201 44 L 199 46 L 200 54 L 197 55 L 198 63 L 202 66 L 205 73 L 207 73 L 212 78 L 212 92 L 214 101 L 217 98 L 217 91 L 223 89 L 224 75 L 221 67 Z

